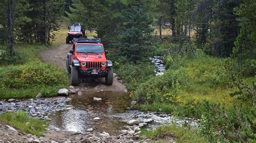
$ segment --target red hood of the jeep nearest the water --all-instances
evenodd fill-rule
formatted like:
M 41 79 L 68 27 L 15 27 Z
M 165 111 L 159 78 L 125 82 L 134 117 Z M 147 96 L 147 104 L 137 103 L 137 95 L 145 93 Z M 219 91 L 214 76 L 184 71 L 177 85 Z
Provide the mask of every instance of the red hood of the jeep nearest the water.
M 88 62 L 106 62 L 106 57 L 104 54 L 77 54 L 77 59 L 79 61 Z

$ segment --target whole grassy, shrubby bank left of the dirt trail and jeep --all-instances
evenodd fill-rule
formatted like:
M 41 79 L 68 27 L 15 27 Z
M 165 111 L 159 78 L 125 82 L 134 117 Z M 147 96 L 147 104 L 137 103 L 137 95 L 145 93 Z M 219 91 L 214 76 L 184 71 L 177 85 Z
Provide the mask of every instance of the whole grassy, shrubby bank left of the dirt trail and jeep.
M 16 44 L 15 60 L 4 57 L 0 67 L 0 98 L 33 98 L 39 92 L 44 97 L 56 96 L 59 88 L 67 88 L 65 70 L 38 58 L 48 45 Z

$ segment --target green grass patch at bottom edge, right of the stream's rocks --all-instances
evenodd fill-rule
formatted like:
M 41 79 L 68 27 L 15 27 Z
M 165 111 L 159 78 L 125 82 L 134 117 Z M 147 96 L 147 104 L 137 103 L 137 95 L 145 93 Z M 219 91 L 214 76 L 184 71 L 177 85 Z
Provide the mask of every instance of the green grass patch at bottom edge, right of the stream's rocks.
M 198 130 L 191 130 L 177 125 L 160 126 L 154 130 L 142 130 L 140 136 L 146 135 L 147 138 L 160 138 L 160 142 L 168 141 L 168 137 L 174 138 L 176 142 L 206 142 L 206 138 L 198 134 Z

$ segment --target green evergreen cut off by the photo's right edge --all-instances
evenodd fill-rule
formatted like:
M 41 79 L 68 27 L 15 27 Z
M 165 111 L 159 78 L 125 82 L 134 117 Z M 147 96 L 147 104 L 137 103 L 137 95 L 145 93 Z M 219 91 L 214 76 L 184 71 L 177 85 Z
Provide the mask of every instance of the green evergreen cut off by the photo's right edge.
M 239 59 L 240 65 L 250 69 L 250 74 L 255 75 L 256 70 L 256 2 L 242 1 L 242 4 L 235 8 L 235 14 L 239 16 L 237 20 L 241 26 L 239 35 L 234 42 L 234 55 Z

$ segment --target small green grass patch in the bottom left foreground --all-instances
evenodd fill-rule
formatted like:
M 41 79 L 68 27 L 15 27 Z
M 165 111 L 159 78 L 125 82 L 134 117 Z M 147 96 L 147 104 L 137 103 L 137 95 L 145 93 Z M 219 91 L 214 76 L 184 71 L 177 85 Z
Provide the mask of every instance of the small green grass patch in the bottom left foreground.
M 48 126 L 48 122 L 41 119 L 32 118 L 25 111 L 8 112 L 0 115 L 0 120 L 19 130 L 43 136 L 43 132 Z

